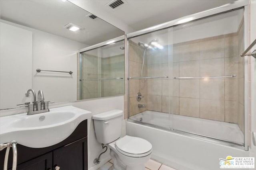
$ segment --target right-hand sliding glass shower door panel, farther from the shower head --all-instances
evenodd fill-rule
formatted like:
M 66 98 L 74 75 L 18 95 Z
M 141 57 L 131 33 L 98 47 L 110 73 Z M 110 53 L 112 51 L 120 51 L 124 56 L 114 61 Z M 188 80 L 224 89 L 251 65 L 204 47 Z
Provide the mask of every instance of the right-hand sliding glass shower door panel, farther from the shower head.
M 173 128 L 244 143 L 243 9 L 173 28 Z

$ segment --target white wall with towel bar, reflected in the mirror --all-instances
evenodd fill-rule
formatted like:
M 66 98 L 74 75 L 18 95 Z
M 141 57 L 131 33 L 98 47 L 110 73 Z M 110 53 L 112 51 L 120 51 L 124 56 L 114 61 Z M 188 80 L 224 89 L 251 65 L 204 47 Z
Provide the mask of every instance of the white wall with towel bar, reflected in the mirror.
M 77 90 L 77 51 L 88 45 L 78 43 L 76 41 L 66 39 L 60 36 L 56 36 L 50 33 L 39 31 L 37 29 L 32 29 L 15 23 L 1 20 L 1 22 L 13 25 L 18 28 L 22 28 L 32 32 L 32 45 L 33 45 L 33 59 L 31 64 L 30 74 L 23 74 L 19 77 L 28 77 L 32 81 L 31 85 L 28 87 L 35 90 L 36 95 L 38 90 L 43 90 L 45 100 L 51 100 L 55 102 L 67 102 L 76 100 L 76 90 Z M 31 51 L 32 52 L 32 51 Z M 23 62 L 28 62 L 24 59 Z M 17 63 L 16 65 L 22 63 Z M 28 62 L 29 63 L 29 62 Z M 8 63 L 8 65 L 11 63 Z M 22 68 L 26 66 L 23 65 Z M 41 70 L 59 70 L 59 71 L 72 71 L 73 74 L 59 73 L 59 72 L 36 72 L 36 69 Z M 15 73 L 16 74 L 16 73 Z M 17 74 L 18 75 L 18 74 Z M 32 75 L 32 77 L 31 77 Z M 2 77 L 2 76 L 1 76 Z M 18 86 L 19 83 L 14 83 Z M 9 88 L 6 88 L 9 89 Z M 5 91 L 7 91 L 5 89 Z M 16 88 L 13 88 L 14 90 Z M 26 90 L 28 90 L 26 89 Z M 4 90 L 4 89 L 3 89 Z M 15 91 L 15 90 L 14 90 Z M 2 92 L 2 88 L 1 88 Z M 16 91 L 15 91 L 16 92 Z M 15 98 L 24 98 L 24 93 L 19 94 L 19 89 Z M 2 96 L 2 95 L 1 95 Z M 32 95 L 30 95 L 32 96 Z M 14 98 L 14 96 L 12 96 Z M 14 104 L 19 104 L 21 102 L 15 102 Z M 8 107 L 6 107 L 8 108 Z M 10 107 L 9 107 L 10 108 Z

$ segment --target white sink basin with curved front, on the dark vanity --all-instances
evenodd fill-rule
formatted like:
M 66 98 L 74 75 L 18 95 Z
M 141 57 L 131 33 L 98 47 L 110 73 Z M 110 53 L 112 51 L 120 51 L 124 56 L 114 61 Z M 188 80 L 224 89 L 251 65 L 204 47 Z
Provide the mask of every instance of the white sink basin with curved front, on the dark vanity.
M 26 147 L 50 147 L 66 139 L 79 123 L 91 117 L 90 111 L 74 106 L 35 115 L 22 113 L 0 117 L 0 143 L 16 140 Z

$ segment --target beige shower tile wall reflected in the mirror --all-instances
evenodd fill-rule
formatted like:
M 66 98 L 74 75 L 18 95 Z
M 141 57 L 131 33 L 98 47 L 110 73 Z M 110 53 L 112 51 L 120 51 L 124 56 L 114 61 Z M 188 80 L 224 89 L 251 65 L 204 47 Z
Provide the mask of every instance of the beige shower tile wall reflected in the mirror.
M 124 55 L 111 56 L 98 60 L 97 56 L 83 53 L 82 57 L 82 99 L 118 96 L 124 94 Z M 98 64 L 100 64 L 101 67 L 98 67 Z M 123 79 L 102 80 L 99 84 L 99 77 L 120 77 Z

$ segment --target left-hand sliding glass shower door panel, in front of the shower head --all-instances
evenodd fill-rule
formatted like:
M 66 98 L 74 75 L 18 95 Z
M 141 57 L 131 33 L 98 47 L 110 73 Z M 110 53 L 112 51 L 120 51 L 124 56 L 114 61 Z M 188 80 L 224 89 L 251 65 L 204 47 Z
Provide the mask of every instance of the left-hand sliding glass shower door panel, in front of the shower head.
M 170 129 L 172 27 L 130 38 L 128 45 L 129 118 Z

